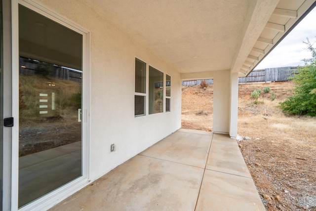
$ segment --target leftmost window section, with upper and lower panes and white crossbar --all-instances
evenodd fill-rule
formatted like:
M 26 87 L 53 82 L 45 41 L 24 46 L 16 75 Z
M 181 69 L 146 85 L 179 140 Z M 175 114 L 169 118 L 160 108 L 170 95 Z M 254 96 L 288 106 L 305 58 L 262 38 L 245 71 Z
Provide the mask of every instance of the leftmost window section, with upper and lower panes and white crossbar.
M 146 107 L 146 63 L 135 58 L 135 117 L 144 116 Z

